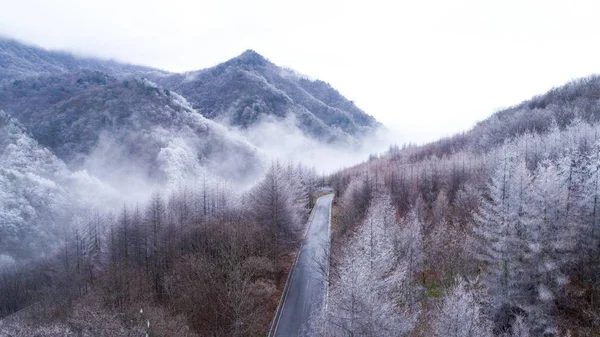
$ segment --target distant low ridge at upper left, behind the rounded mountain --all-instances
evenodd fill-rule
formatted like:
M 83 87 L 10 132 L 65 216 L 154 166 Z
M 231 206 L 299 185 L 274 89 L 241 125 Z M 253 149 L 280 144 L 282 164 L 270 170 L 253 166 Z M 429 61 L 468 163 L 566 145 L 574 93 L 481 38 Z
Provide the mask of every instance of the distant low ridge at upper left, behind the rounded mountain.
M 69 53 L 49 51 L 0 38 L 0 84 L 31 76 L 70 73 L 83 69 L 102 71 L 117 77 L 167 74 L 165 71 L 149 67 L 80 58 Z

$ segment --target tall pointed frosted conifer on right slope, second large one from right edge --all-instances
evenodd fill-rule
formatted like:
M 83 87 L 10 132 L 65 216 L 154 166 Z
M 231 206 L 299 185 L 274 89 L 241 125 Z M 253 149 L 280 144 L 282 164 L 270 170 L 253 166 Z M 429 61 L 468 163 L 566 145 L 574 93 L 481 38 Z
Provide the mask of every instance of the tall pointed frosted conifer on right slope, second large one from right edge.
M 497 322 L 504 322 L 519 307 L 524 253 L 523 207 L 529 176 L 525 163 L 514 152 L 503 154 L 488 183 L 475 216 L 477 256 L 484 268 L 484 283 Z

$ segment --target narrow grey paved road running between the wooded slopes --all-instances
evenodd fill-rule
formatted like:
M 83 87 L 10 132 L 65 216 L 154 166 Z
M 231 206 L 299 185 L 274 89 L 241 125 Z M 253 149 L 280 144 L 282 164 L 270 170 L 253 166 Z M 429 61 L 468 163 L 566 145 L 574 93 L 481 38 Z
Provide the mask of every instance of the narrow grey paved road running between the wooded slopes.
M 327 292 L 329 221 L 333 194 L 317 200 L 296 265 L 291 271 L 269 336 L 309 336 L 309 321 L 322 315 Z

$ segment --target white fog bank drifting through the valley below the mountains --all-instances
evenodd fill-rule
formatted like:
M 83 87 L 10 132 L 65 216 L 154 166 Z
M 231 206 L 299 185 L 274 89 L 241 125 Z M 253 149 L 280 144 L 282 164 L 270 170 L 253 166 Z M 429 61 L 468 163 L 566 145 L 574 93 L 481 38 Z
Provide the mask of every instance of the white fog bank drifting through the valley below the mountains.
M 365 161 L 394 143 L 392 132 L 384 128 L 364 139 L 327 143 L 307 136 L 292 118 L 265 118 L 247 129 L 229 126 L 220 132 L 253 145 L 258 160 L 232 149 L 202 153 L 205 144 L 199 145 L 197 136 L 164 129 L 152 132 L 162 140 L 154 152 L 132 155 L 114 135 L 103 133 L 81 169 L 74 171 L 71 190 L 82 204 L 114 211 L 123 204 L 143 204 L 156 191 L 200 188 L 206 180 L 246 191 L 273 162 L 302 164 L 326 175 Z

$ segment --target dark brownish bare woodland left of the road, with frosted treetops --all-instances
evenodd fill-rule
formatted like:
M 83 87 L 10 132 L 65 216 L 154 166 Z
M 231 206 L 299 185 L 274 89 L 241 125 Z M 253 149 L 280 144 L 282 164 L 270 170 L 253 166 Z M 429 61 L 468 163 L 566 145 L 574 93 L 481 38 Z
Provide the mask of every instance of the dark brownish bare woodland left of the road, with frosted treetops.
M 25 310 L 0 328 L 20 336 L 262 335 L 316 182 L 312 169 L 275 163 L 246 193 L 201 180 L 115 213 L 74 214 L 55 254 L 3 271 L 0 313 Z

